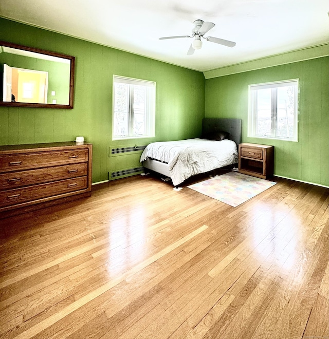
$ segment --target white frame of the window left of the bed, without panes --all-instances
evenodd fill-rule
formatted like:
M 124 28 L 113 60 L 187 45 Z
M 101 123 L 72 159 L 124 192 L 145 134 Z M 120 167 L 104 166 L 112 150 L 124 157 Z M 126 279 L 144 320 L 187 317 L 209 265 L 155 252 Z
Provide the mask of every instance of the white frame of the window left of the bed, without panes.
M 129 85 L 138 85 L 147 87 L 147 99 L 146 99 L 146 121 L 144 126 L 144 134 L 134 135 L 134 110 L 133 110 L 133 91 L 130 90 L 129 94 L 129 112 L 128 112 L 128 131 L 124 135 L 115 135 L 115 83 L 124 83 Z M 112 91 L 112 140 L 122 139 L 138 139 L 138 138 L 154 138 L 155 137 L 155 94 L 156 94 L 156 82 L 127 78 L 113 75 L 113 91 Z

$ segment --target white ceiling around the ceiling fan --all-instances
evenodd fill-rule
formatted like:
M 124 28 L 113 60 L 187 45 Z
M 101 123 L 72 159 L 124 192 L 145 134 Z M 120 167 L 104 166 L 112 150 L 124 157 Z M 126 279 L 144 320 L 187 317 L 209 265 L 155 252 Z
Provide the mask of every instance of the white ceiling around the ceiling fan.
M 1 0 L 0 16 L 175 65 L 207 71 L 329 42 L 327 0 Z M 193 21 L 216 26 L 187 55 Z

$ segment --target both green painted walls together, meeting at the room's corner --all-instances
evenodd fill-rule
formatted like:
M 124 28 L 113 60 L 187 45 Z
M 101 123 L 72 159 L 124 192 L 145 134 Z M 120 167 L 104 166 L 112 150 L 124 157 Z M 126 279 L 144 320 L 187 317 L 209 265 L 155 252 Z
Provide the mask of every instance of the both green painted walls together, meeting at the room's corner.
M 0 40 L 76 57 L 74 109 L 0 107 L 0 144 L 93 143 L 93 182 L 139 166 L 110 146 L 197 137 L 205 117 L 243 120 L 243 141 L 275 145 L 275 174 L 329 186 L 329 58 L 205 80 L 201 72 L 0 18 Z M 113 74 L 157 82 L 156 138 L 111 141 Z M 299 141 L 247 137 L 248 84 L 298 78 Z

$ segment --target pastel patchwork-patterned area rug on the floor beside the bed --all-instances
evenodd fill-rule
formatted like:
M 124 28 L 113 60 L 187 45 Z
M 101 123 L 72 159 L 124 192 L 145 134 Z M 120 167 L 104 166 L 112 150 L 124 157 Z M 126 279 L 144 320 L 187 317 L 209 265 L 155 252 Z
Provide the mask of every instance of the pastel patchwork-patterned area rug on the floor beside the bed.
M 229 172 L 187 187 L 236 207 L 275 184 L 273 181 Z

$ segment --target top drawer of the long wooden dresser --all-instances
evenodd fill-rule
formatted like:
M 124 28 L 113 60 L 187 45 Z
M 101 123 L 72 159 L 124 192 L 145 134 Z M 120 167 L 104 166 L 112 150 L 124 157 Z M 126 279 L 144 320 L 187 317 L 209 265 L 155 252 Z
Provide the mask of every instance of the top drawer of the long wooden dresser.
M 53 164 L 86 162 L 87 160 L 87 148 L 4 155 L 0 156 L 0 172 L 21 171 Z

